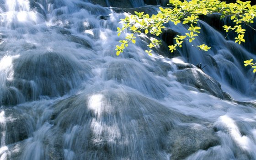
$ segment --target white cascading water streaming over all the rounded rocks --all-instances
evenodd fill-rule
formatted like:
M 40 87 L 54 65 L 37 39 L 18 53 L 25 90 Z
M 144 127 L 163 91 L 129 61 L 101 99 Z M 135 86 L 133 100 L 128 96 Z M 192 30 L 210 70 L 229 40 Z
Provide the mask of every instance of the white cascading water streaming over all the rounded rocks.
M 95 1 L 0 0 L 0 160 L 256 159 L 255 55 L 202 21 L 208 52 L 117 57 L 128 13 Z

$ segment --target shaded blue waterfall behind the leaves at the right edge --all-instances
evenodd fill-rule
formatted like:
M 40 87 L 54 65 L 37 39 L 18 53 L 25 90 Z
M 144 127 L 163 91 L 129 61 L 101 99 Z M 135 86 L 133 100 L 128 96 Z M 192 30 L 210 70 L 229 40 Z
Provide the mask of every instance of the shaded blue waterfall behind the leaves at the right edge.
M 184 35 L 187 32 L 186 26 L 171 24 L 170 27 Z M 205 73 L 218 80 L 223 89 L 229 91 L 229 94 L 232 94 L 230 89 L 235 89 L 236 92 L 255 97 L 255 80 L 252 79 L 254 75 L 251 74 L 251 70 L 248 72 L 248 69 L 244 67 L 243 61 L 244 59 L 255 59 L 256 56 L 237 43 L 225 40 L 221 33 L 216 32 L 207 23 L 200 21 L 199 27 L 202 29 L 198 38 L 193 43 L 186 43 L 181 48 L 182 57 L 191 64 L 202 63 L 206 66 L 203 69 Z M 198 51 L 194 47 L 203 43 L 211 46 L 209 52 Z

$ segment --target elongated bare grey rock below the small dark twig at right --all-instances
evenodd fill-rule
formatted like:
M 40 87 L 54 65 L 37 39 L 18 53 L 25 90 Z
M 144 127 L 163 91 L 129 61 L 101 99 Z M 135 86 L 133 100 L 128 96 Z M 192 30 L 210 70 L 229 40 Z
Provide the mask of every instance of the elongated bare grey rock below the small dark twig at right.
M 182 84 L 192 85 L 200 89 L 201 91 L 205 91 L 210 93 L 213 96 L 219 97 L 221 99 L 225 99 L 223 91 L 221 90 L 221 86 L 219 82 L 214 80 L 212 77 L 203 73 L 203 71 L 196 68 L 187 68 L 182 70 L 177 70 L 173 73 L 176 76 L 177 81 Z

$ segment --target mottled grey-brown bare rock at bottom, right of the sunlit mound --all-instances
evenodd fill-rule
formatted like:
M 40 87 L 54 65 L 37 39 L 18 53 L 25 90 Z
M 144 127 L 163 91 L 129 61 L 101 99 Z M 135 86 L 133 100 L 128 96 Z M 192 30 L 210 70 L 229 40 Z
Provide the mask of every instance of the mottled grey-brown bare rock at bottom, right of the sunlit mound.
M 174 128 L 168 135 L 167 151 L 171 153 L 171 160 L 181 160 L 199 149 L 207 150 L 220 144 L 213 129 L 198 124 Z

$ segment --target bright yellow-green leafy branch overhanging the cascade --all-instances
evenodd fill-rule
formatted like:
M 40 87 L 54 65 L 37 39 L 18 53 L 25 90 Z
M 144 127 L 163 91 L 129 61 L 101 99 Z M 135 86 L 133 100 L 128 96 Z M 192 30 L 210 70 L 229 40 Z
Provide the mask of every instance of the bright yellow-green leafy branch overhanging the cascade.
M 136 43 L 135 35 L 138 34 L 153 34 L 159 36 L 164 28 L 164 24 L 173 22 L 175 25 L 182 23 L 188 25 L 187 33 L 185 35 L 177 35 L 174 45 L 168 46 L 170 51 L 173 52 L 177 47 L 182 47 L 184 41 L 192 43 L 193 40 L 200 33 L 200 27 L 197 22 L 200 15 L 208 15 L 213 13 L 219 13 L 220 18 L 228 17 L 234 21 L 234 26 L 224 25 L 224 31 L 228 34 L 230 32 L 236 32 L 235 43 L 245 42 L 244 34 L 245 29 L 242 28 L 242 23 L 250 26 L 253 23 L 253 19 L 256 16 L 256 5 L 251 5 L 251 1 L 242 2 L 236 0 L 236 3 L 226 3 L 219 0 L 170 0 L 171 7 L 159 8 L 158 14 L 149 16 L 144 12 L 134 12 L 135 15 L 126 16 L 121 19 L 123 27 L 117 27 L 118 36 L 126 30 L 131 33 L 126 33 L 125 40 L 119 41 L 121 45 L 116 46 L 116 53 L 119 55 L 123 53 L 123 49 L 128 47 L 128 43 Z M 149 43 L 149 50 L 146 53 L 151 54 L 151 48 L 161 43 L 160 40 L 151 37 L 151 43 Z M 210 47 L 205 44 L 196 46 L 199 50 L 208 51 Z M 255 70 L 256 71 L 256 70 Z

